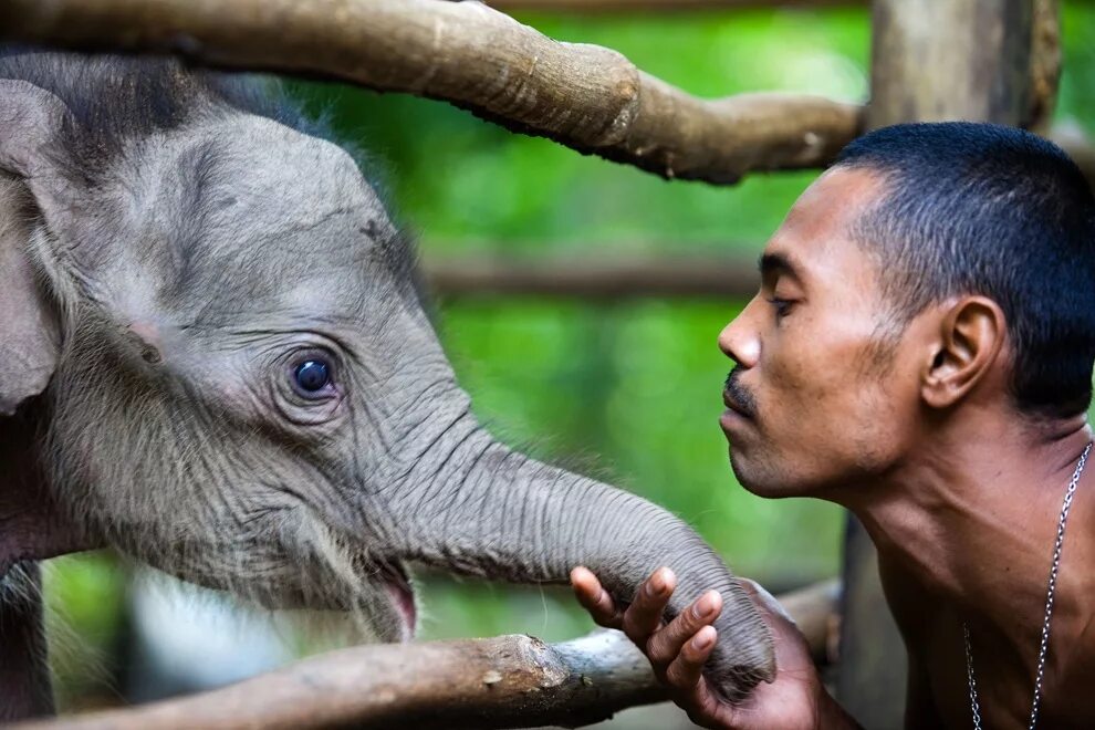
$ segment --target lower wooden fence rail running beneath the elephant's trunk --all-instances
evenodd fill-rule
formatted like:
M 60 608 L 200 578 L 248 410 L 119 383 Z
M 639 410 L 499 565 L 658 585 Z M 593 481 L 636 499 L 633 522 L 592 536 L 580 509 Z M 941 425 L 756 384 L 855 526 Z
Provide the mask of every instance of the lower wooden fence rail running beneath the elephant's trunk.
M 781 597 L 816 658 L 832 644 L 837 592 L 828 581 Z M 201 695 L 13 730 L 576 727 L 664 699 L 630 642 L 599 630 L 555 645 L 500 636 L 342 649 Z

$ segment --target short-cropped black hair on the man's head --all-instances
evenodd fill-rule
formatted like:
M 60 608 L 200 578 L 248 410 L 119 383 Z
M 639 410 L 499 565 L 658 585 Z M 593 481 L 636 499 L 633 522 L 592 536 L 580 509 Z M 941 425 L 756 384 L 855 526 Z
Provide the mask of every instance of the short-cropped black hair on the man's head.
M 885 272 L 898 317 L 988 296 L 1008 322 L 1019 409 L 1061 418 L 1089 406 L 1095 197 L 1060 147 L 993 124 L 899 124 L 852 142 L 836 165 L 886 181 L 852 234 Z

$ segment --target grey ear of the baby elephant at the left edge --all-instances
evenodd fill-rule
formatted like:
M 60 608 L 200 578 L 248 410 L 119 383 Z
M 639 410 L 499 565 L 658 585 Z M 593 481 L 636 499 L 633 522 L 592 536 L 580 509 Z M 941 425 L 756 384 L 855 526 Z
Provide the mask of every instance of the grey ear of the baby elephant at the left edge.
M 56 366 L 56 317 L 30 243 L 56 182 L 44 152 L 66 113 L 49 92 L 0 80 L 0 416 L 44 390 Z

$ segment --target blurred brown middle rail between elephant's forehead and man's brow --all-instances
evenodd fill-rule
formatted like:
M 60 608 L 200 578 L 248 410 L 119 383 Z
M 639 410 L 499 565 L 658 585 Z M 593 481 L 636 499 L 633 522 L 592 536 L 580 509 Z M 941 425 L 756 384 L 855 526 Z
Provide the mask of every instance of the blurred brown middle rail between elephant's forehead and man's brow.
M 727 257 L 619 259 L 425 259 L 432 291 L 456 296 L 567 296 L 619 300 L 635 296 L 751 298 L 757 262 Z

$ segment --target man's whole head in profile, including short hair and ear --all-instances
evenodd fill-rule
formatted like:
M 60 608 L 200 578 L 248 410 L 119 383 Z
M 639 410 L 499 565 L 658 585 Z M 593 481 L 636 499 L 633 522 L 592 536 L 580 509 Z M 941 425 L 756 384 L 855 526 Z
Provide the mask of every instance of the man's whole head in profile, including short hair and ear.
M 749 489 L 877 477 L 956 416 L 1076 417 L 1095 361 L 1095 199 L 1018 129 L 887 127 L 848 145 L 765 248 L 719 337 Z

